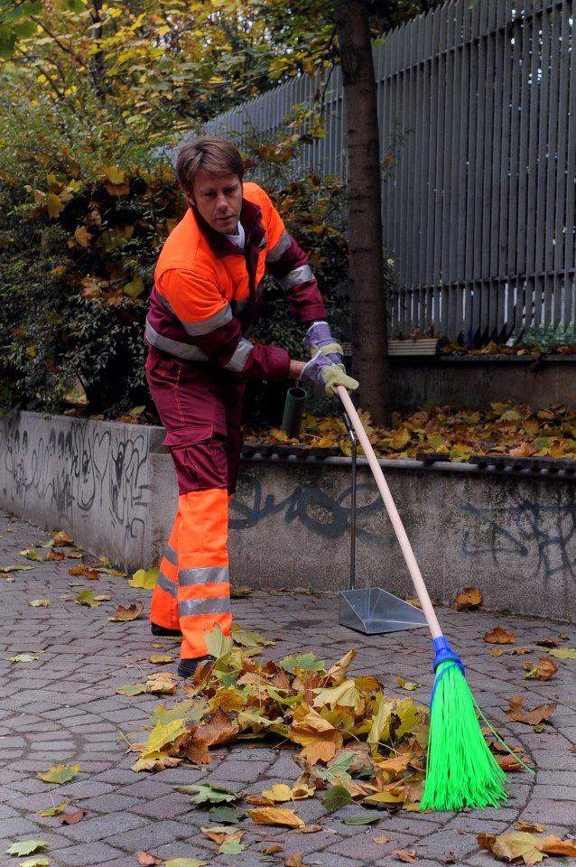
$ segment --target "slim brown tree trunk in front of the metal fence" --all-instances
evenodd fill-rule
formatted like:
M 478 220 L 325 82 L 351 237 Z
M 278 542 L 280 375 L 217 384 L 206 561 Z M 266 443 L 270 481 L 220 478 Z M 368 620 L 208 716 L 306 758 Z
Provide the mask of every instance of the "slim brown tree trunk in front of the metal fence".
M 333 0 L 346 110 L 352 373 L 375 424 L 390 422 L 376 80 L 365 0 Z

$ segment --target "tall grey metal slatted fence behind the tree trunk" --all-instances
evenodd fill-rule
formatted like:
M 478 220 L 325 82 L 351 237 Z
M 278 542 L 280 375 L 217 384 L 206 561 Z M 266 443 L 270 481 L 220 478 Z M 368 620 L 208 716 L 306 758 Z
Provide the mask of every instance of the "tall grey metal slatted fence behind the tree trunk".
M 375 47 L 392 333 L 574 341 L 575 48 L 572 0 L 451 0 Z M 294 79 L 210 131 L 273 131 L 316 87 Z M 339 70 L 325 110 L 300 168 L 345 177 Z

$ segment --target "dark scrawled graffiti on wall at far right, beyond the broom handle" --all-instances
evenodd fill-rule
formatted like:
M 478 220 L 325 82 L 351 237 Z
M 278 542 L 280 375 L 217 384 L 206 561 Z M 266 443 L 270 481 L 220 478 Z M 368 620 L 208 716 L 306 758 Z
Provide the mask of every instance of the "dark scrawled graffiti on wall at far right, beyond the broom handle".
M 462 551 L 469 557 L 489 556 L 509 575 L 510 561 L 525 561 L 534 572 L 553 578 L 576 576 L 576 501 L 571 484 L 558 486 L 555 496 L 539 503 L 511 490 L 506 504 L 461 508 L 473 518 L 464 530 Z M 507 567 L 507 568 L 506 568 Z M 522 574 L 518 575 L 522 579 Z

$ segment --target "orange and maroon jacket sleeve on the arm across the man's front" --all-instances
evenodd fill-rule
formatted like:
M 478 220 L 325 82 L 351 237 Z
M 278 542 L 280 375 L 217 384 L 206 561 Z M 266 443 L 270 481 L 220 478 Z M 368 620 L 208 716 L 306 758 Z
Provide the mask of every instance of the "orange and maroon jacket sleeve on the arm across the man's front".
M 290 356 L 280 347 L 252 343 L 208 275 L 174 268 L 157 286 L 164 306 L 172 312 L 200 350 L 197 360 L 209 361 L 246 379 L 285 379 Z

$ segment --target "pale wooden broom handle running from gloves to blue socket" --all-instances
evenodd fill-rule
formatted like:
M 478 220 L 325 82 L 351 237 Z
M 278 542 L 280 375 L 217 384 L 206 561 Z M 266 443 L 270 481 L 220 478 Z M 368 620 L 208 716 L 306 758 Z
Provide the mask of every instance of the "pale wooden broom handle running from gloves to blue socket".
M 348 418 L 356 431 L 358 436 L 358 441 L 362 448 L 364 449 L 364 453 L 367 456 L 368 463 L 370 464 L 370 469 L 374 474 L 374 480 L 376 481 L 376 485 L 382 495 L 382 499 L 384 500 L 384 505 L 386 506 L 386 511 L 388 513 L 388 517 L 392 522 L 392 526 L 395 529 L 395 534 L 400 543 L 400 547 L 402 548 L 402 553 L 404 555 L 404 560 L 406 561 L 406 565 L 408 566 L 408 571 L 412 577 L 414 590 L 420 600 L 420 604 L 422 605 L 422 610 L 424 617 L 426 618 L 426 622 L 428 623 L 428 627 L 432 633 L 432 639 L 441 638 L 442 630 L 440 628 L 440 623 L 438 622 L 438 618 L 432 608 L 432 602 L 430 601 L 430 596 L 428 595 L 428 591 L 426 590 L 426 585 L 423 582 L 422 573 L 418 568 L 418 564 L 416 563 L 416 558 L 414 557 L 412 545 L 408 540 L 408 536 L 406 536 L 406 531 L 404 530 L 404 526 L 402 521 L 400 520 L 400 516 L 398 515 L 398 510 L 395 507 L 395 501 L 392 499 L 392 494 L 390 493 L 390 489 L 388 488 L 388 484 L 386 479 L 384 478 L 384 473 L 382 472 L 382 467 L 378 463 L 378 459 L 376 458 L 376 454 L 374 453 L 374 449 L 370 444 L 370 441 L 367 438 L 367 433 L 364 430 L 362 422 L 358 416 L 356 408 L 352 401 L 350 400 L 350 396 L 348 395 L 348 391 L 344 386 L 337 386 L 336 390 L 338 392 L 338 396 L 348 413 Z

